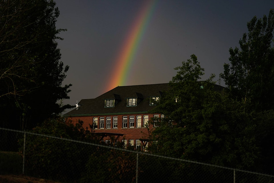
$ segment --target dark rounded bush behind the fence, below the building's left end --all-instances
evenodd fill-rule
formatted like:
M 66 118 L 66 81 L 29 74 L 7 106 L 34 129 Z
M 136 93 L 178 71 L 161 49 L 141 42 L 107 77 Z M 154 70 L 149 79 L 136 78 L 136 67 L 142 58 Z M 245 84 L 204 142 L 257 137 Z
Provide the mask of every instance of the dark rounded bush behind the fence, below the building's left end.
M 33 133 L 49 136 L 97 142 L 93 133 L 82 128 L 82 121 L 75 126 L 63 118 L 47 120 L 33 129 Z M 21 139 L 23 144 L 23 139 Z M 23 147 L 23 146 L 22 146 Z M 96 148 L 67 140 L 26 134 L 25 172 L 53 180 L 72 181 L 81 176 L 81 170 Z M 23 149 L 20 150 L 23 153 Z

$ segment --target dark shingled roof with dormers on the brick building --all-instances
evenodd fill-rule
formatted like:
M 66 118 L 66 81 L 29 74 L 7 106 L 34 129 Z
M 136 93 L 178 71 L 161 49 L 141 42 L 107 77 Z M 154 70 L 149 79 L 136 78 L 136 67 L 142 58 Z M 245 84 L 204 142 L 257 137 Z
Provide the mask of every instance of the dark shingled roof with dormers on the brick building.
M 112 114 L 140 114 L 152 110 L 150 97 L 161 96 L 170 88 L 168 83 L 150 85 L 117 86 L 94 99 L 82 99 L 76 108 L 64 116 L 95 116 Z M 138 98 L 136 106 L 127 106 L 127 98 Z M 104 100 L 115 99 L 114 107 L 105 107 Z M 118 101 L 118 102 L 117 102 Z

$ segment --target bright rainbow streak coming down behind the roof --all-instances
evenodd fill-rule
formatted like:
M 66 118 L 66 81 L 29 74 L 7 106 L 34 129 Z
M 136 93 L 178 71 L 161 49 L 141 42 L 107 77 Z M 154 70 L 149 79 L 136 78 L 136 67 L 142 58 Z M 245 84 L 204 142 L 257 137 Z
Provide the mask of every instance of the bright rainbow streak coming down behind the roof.
M 133 60 L 138 50 L 139 44 L 146 31 L 148 23 L 154 13 L 157 0 L 145 1 L 145 5 L 142 7 L 138 16 L 136 17 L 129 34 L 126 36 L 124 43 L 122 44 L 121 51 L 118 57 L 115 59 L 115 67 L 111 75 L 110 83 L 107 85 L 106 91 L 109 91 L 115 87 L 126 85 L 128 75 L 132 69 Z

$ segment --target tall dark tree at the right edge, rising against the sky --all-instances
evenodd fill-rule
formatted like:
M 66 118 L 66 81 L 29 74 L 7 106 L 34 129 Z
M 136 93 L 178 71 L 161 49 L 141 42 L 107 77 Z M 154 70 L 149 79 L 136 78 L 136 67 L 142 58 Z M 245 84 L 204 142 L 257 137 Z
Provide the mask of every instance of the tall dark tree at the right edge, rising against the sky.
M 273 173 L 273 82 L 274 82 L 274 11 L 262 19 L 253 17 L 247 23 L 248 33 L 239 41 L 240 48 L 230 48 L 229 61 L 224 64 L 224 79 L 229 97 L 243 101 L 248 124 L 237 138 L 239 149 L 256 148 L 260 153 L 242 153 L 250 164 L 258 164 L 258 171 Z M 252 145 L 254 145 L 252 147 Z M 245 156 L 245 157 L 244 157 Z

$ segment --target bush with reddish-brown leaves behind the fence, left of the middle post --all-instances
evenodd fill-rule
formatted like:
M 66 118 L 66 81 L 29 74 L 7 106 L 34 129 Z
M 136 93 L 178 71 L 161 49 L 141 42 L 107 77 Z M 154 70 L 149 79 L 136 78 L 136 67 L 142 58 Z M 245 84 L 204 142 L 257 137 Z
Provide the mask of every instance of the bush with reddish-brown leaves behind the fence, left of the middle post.
M 135 182 L 136 153 L 98 148 L 90 155 L 81 182 Z

